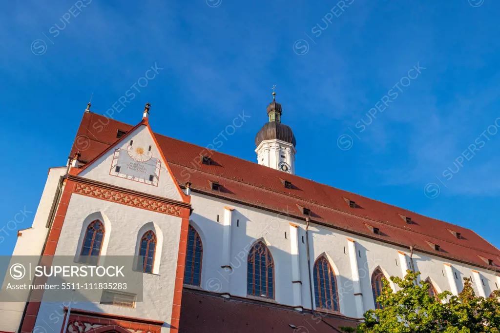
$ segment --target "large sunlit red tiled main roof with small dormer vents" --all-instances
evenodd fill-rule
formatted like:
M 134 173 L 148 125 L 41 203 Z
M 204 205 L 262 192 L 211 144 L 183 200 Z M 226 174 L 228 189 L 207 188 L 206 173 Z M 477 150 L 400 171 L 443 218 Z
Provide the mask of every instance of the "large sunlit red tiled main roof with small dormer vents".
M 117 140 L 118 129 L 128 131 L 132 127 L 86 112 L 70 156 L 79 150 L 80 159 L 90 161 Z M 156 133 L 154 135 L 174 177 L 179 184 L 189 179 L 193 191 L 303 218 L 297 207 L 300 205 L 311 210 L 311 222 L 500 271 L 500 251 L 469 229 L 234 156 L 208 151 L 184 141 Z M 201 154 L 210 155 L 213 163 L 202 164 Z M 292 188 L 285 189 L 280 179 L 291 182 Z M 222 187 L 221 191 L 211 191 L 209 181 L 217 181 Z M 354 201 L 356 208 L 350 208 L 346 200 Z M 412 224 L 407 224 L 401 216 L 410 217 Z M 378 228 L 380 235 L 374 235 L 365 224 Z M 460 233 L 461 239 L 457 239 L 450 230 Z M 440 251 L 434 251 L 428 243 L 439 245 Z M 493 260 L 495 267 L 488 267 L 479 256 Z

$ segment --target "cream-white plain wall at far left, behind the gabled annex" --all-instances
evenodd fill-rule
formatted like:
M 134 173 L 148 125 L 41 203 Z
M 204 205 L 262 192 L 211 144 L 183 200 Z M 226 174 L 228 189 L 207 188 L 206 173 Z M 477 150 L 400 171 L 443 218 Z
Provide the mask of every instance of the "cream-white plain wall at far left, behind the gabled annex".
M 54 200 L 60 176 L 66 167 L 48 170 L 47 181 L 41 194 L 31 228 L 23 230 L 17 238 L 13 256 L 38 256 L 41 254 L 48 229 L 45 227 Z M 24 311 L 25 302 L 0 302 L 0 331 L 17 332 Z

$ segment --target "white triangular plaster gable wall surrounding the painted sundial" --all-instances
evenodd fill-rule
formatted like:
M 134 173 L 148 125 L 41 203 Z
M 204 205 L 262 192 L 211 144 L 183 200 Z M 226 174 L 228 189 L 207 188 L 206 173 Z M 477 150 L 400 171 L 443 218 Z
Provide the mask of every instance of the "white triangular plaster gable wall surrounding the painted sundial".
M 126 154 L 126 148 L 128 147 L 130 140 L 133 140 L 134 147 L 143 147 L 147 150 L 148 146 L 151 146 L 152 156 L 160 159 L 161 170 L 158 178 L 158 186 L 139 183 L 109 174 L 114 151 L 117 148 L 121 148 L 125 150 L 123 153 Z M 181 200 L 180 193 L 177 190 L 177 185 L 170 177 L 165 161 L 161 158 L 158 147 L 154 144 L 154 140 L 145 125 L 139 126 L 133 132 L 126 135 L 126 137 L 118 145 L 112 147 L 107 153 L 98 158 L 78 176 L 93 179 L 106 184 L 124 187 L 138 192 L 149 193 L 179 201 Z

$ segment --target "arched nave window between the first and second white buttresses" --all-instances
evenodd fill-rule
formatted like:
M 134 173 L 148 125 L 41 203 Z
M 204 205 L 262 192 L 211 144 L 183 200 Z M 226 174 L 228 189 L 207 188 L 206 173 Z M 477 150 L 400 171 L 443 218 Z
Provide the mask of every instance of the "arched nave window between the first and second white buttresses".
M 274 298 L 274 262 L 262 242 L 255 243 L 248 252 L 247 265 L 248 295 Z

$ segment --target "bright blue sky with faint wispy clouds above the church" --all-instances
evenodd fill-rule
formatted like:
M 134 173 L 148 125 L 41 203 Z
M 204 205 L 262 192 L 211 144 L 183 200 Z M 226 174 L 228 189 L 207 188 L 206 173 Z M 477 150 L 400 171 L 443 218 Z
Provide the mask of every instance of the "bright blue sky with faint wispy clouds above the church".
M 255 161 L 276 84 L 298 175 L 500 247 L 500 3 L 316 2 L 6 2 L 0 255 L 65 165 L 90 94 L 102 114 L 155 64 L 115 119 L 136 124 L 149 102 L 155 132 L 206 146 L 244 110 L 219 151 Z

